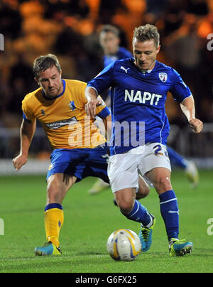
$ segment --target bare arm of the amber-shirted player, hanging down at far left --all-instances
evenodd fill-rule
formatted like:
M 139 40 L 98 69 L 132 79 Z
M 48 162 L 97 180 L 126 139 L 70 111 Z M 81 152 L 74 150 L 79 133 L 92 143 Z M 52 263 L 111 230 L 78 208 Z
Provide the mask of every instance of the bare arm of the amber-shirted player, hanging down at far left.
M 33 135 L 35 134 L 36 120 L 27 121 L 23 119 L 20 128 L 20 139 L 21 139 L 21 148 L 20 153 L 16 158 L 13 158 L 13 166 L 16 170 L 19 170 L 24 164 L 26 164 L 28 159 L 28 150 L 31 146 L 31 141 Z

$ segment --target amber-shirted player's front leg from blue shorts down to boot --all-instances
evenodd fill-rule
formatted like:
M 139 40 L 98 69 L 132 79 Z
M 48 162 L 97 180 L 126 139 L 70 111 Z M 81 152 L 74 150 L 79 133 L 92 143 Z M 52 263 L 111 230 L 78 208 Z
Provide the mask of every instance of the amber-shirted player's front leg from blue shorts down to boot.
M 59 233 L 63 223 L 62 201 L 76 182 L 80 181 L 84 170 L 84 149 L 55 149 L 50 156 L 51 164 L 47 174 L 47 202 L 45 206 L 45 232 L 48 242 L 44 247 L 36 247 L 36 255 L 60 254 Z

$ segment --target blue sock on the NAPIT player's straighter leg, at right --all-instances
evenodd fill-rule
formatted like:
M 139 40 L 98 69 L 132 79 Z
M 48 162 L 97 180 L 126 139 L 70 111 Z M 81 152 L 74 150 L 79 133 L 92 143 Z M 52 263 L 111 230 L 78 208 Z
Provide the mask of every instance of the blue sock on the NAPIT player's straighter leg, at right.
M 177 238 L 179 234 L 179 210 L 178 200 L 173 190 L 165 191 L 159 195 L 160 213 L 165 223 L 168 240 Z

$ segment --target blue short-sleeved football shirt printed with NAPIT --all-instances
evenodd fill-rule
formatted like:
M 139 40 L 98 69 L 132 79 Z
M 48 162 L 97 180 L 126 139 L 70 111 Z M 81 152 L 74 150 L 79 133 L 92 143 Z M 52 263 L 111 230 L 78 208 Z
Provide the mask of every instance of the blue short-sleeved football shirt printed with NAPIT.
M 133 58 L 111 63 L 87 86 L 98 94 L 111 87 L 111 155 L 147 143 L 166 144 L 170 131 L 165 114 L 168 92 L 178 102 L 192 95 L 172 67 L 155 61 L 151 72 L 141 72 Z

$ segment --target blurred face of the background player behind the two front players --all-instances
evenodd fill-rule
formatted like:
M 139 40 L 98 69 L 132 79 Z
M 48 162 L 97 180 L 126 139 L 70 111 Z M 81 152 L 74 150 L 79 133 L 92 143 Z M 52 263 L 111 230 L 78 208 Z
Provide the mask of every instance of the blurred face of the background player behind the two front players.
M 105 55 L 114 55 L 119 50 L 119 38 L 112 32 L 102 32 L 100 34 L 100 44 Z

